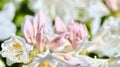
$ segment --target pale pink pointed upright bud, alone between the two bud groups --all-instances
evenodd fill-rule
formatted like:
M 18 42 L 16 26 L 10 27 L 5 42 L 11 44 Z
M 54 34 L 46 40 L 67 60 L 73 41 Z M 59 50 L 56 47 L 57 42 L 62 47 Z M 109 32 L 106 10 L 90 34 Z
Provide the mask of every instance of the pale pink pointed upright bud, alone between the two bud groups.
M 55 18 L 55 32 L 58 34 L 67 32 L 65 24 L 61 21 L 59 17 Z

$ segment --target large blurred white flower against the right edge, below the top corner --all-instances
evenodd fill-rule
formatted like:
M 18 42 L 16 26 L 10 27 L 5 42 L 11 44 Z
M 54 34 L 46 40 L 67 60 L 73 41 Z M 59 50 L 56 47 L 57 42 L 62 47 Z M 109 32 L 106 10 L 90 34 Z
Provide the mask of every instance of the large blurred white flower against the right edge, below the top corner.
M 94 45 L 88 48 L 90 52 L 109 57 L 120 57 L 120 18 L 108 18 L 101 30 L 93 36 Z

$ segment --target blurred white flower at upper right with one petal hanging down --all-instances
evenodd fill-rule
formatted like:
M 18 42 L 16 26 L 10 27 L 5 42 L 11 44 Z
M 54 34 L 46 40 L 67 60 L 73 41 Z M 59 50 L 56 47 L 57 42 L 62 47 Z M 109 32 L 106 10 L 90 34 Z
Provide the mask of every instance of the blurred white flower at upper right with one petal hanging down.
M 102 0 L 80 0 L 80 21 L 91 20 L 91 31 L 95 33 L 100 28 L 101 17 L 110 13 Z

